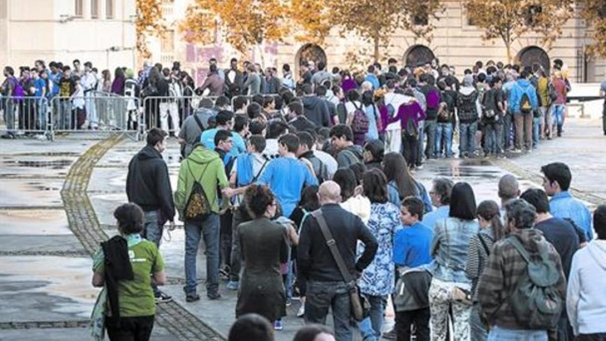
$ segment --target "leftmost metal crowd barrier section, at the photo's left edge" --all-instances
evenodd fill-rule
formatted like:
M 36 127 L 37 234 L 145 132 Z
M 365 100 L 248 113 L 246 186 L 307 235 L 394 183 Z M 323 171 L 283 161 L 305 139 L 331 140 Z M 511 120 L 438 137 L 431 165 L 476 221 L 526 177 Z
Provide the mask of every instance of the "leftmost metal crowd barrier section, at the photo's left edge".
M 2 96 L 0 110 L 9 134 L 48 132 L 50 106 L 45 97 Z

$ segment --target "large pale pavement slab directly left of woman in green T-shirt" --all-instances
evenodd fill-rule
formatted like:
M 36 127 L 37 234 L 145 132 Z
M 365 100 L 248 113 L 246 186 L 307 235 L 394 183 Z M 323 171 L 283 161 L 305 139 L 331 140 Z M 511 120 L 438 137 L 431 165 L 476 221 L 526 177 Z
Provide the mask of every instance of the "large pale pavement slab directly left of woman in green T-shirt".
M 90 317 L 99 292 L 91 258 L 2 256 L 0 263 L 0 322 Z

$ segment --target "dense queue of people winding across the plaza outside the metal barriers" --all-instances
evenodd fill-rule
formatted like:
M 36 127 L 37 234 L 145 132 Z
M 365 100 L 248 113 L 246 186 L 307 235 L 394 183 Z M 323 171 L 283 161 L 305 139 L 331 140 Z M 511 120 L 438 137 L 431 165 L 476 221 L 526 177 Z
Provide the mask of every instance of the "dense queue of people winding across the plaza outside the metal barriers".
M 208 299 L 221 299 L 222 280 L 238 291 L 230 340 L 242 340 L 247 326 L 271 340 L 294 297 L 297 316 L 318 331 L 305 340 L 349 341 L 356 329 L 364 340 L 446 340 L 451 333 L 455 340 L 604 340 L 606 206 L 592 217 L 573 198 L 566 164 L 543 166 L 543 189 L 523 193 L 505 175 L 501 202 L 479 204 L 468 183 L 438 177 L 428 190 L 412 171 L 424 158 L 452 157 L 454 124 L 461 158 L 482 148 L 502 155 L 507 142 L 531 150 L 533 131 L 538 139 L 561 132 L 559 121 L 553 130 L 541 117 L 565 105 L 565 78 L 556 71 L 547 79 L 538 67 L 533 80 L 530 70 L 488 63 L 485 72 L 479 64 L 466 70 L 459 84 L 450 67 L 435 69 L 437 62 L 410 72 L 391 62 L 389 72 L 373 65 L 353 77 L 327 72 L 321 62 L 317 70 L 302 66 L 305 76 L 292 90 L 280 85 L 284 79 L 266 79 L 279 95 L 232 93 L 230 101 L 224 91 L 231 88 L 219 87 L 221 96 L 202 98 L 176 134 L 182 160 L 174 192 L 162 159 L 169 132 L 148 130 L 147 145 L 128 166 L 130 204 L 115 212 L 122 237 L 95 258 L 93 283 L 105 285 L 112 303 L 110 338 L 151 333 L 153 298 L 171 300 L 158 289 L 158 246 L 165 224 L 174 228 L 178 217 L 186 302 L 200 300 L 201 239 Z M 150 68 L 150 77 L 159 71 Z M 231 76 L 227 70 L 225 79 Z M 249 93 L 261 87 L 248 77 L 242 84 Z M 216 71 L 203 87 L 221 80 Z M 539 101 L 541 84 L 564 93 L 564 103 Z M 542 128 L 527 130 L 534 123 Z M 145 297 L 145 306 L 130 301 L 133 295 Z M 387 304 L 396 325 L 383 333 Z M 334 333 L 317 326 L 329 309 Z M 105 312 L 95 311 L 102 319 Z

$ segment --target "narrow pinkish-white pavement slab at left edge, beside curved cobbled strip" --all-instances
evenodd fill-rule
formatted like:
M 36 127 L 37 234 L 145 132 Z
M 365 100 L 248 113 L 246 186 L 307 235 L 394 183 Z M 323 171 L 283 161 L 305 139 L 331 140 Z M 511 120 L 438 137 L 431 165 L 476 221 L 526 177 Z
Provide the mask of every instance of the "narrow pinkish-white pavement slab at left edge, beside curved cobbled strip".
M 0 221 L 0 234 L 72 234 L 63 209 L 4 209 Z

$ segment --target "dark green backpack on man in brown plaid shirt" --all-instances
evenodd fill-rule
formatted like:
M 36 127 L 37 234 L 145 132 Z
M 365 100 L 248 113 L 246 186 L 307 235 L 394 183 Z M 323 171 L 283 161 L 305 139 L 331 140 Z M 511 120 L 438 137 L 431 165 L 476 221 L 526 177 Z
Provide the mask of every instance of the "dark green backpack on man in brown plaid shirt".
M 547 241 L 539 243 L 538 254 L 531 257 L 518 238 L 511 236 L 506 240 L 527 263 L 525 274 L 509 297 L 513 316 L 523 329 L 555 328 L 564 308 L 564 297 L 556 288 L 561 271 L 548 256 Z

